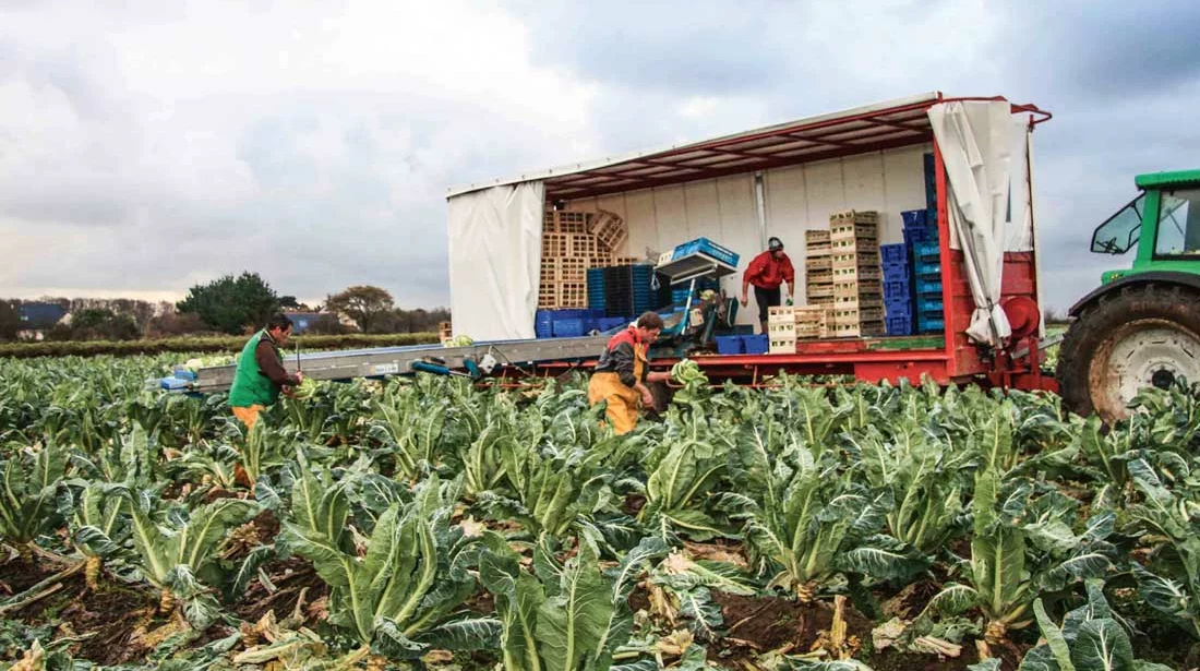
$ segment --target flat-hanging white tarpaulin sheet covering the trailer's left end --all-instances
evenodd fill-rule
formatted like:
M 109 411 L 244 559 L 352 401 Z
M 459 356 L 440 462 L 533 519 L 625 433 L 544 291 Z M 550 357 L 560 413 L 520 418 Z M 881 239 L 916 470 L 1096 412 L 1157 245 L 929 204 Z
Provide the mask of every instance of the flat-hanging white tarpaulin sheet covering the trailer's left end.
M 534 337 L 541 265 L 541 181 L 450 198 L 450 313 L 455 335 Z

